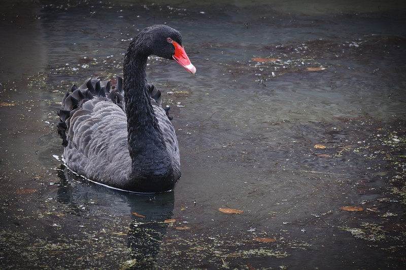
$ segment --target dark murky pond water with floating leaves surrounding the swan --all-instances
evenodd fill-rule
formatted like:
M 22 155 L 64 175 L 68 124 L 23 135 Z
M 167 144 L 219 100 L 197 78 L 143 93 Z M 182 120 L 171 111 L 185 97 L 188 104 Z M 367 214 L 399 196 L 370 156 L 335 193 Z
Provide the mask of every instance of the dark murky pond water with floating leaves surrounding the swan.
M 405 11 L 6 1 L 0 268 L 405 267 Z M 72 84 L 122 74 L 130 38 L 163 23 L 197 68 L 148 65 L 171 105 L 182 178 L 154 196 L 90 183 L 61 161 L 59 102 Z

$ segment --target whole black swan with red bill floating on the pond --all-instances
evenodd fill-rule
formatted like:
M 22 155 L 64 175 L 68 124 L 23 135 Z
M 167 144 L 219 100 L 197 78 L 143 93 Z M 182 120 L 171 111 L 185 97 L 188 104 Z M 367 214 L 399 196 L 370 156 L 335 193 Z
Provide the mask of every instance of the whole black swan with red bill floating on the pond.
M 124 57 L 123 79 L 88 79 L 62 99 L 58 133 L 65 164 L 91 181 L 141 193 L 173 189 L 181 177 L 178 141 L 161 93 L 146 79 L 149 55 L 194 74 L 181 34 L 166 25 L 140 31 Z

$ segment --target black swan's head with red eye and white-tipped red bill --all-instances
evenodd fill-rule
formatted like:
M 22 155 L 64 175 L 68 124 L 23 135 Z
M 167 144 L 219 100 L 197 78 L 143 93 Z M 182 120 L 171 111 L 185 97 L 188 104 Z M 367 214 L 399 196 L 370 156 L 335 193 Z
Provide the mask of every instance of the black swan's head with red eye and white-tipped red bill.
M 167 25 L 153 25 L 141 31 L 140 35 L 147 43 L 149 54 L 174 59 L 190 73 L 196 72 L 196 67 L 190 62 L 183 48 L 182 35 L 179 31 Z

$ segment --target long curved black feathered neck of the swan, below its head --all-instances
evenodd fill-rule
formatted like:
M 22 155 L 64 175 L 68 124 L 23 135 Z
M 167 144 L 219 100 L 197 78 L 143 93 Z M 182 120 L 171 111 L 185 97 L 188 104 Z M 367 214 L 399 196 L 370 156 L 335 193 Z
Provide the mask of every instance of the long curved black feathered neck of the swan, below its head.
M 157 163 L 162 164 L 163 167 L 170 167 L 165 141 L 151 105 L 146 79 L 148 54 L 134 48 L 140 48 L 140 46 L 134 47 L 131 43 L 124 58 L 123 69 L 128 150 L 132 160 L 132 174 L 139 171 L 153 171 L 154 164 Z

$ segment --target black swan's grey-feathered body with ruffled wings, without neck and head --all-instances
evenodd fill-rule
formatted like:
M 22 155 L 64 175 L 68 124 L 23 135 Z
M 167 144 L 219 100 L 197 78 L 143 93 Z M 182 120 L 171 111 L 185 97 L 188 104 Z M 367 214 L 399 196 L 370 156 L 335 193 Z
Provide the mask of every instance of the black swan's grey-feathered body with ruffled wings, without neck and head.
M 138 192 L 170 190 L 180 178 L 179 148 L 168 110 L 161 107 L 161 93 L 147 85 L 166 153 L 147 147 L 134 163 L 128 150 L 122 85 L 120 77 L 113 89 L 110 81 L 89 79 L 65 94 L 58 124 L 65 163 L 80 175 L 112 187 Z M 142 138 L 139 140 L 142 144 Z M 157 162 L 161 156 L 171 157 L 170 175 L 164 177 L 160 176 L 162 168 Z

